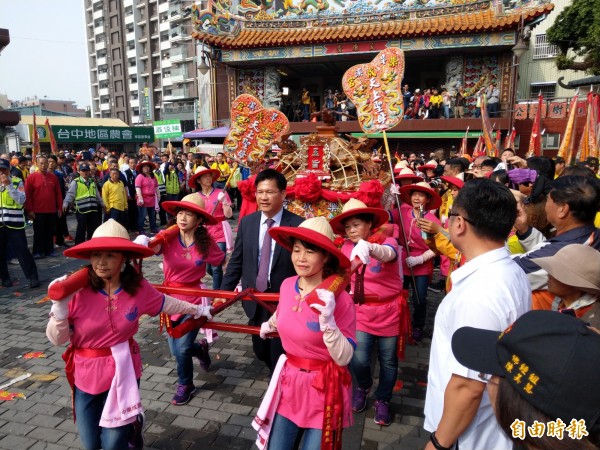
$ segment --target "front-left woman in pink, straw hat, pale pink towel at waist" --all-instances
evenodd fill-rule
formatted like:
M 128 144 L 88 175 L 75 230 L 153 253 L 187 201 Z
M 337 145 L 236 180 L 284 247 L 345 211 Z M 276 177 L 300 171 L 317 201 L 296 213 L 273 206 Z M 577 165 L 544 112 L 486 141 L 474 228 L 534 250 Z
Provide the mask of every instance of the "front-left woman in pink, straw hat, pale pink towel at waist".
M 65 298 L 52 299 L 46 335 L 54 345 L 70 341 L 63 359 L 83 447 L 141 448 L 142 361 L 133 339 L 140 317 L 161 312 L 210 317 L 210 307 L 154 289 L 131 265 L 131 259 L 154 252 L 131 242 L 127 230 L 113 219 L 98 227 L 92 239 L 64 253 L 89 259 L 89 284 Z

